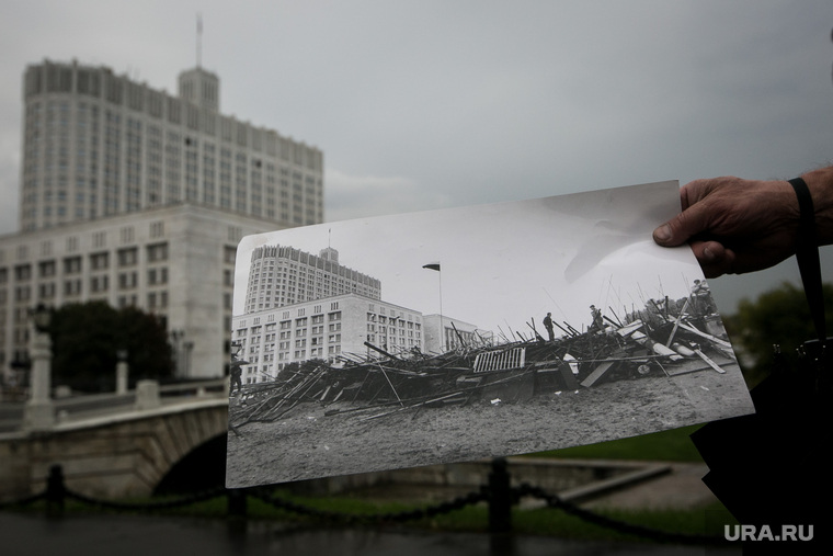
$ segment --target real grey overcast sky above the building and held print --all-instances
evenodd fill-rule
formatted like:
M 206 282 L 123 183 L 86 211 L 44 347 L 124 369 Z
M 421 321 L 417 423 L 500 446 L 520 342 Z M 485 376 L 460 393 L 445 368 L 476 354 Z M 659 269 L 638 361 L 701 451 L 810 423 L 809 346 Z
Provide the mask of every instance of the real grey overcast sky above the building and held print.
M 221 111 L 323 150 L 329 220 L 833 159 L 830 0 L 3 0 L 0 232 L 18 227 L 26 65 L 174 92 L 197 13 Z M 711 283 L 734 299 L 794 266 Z

